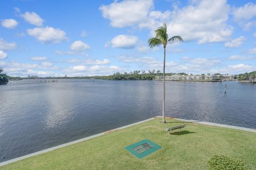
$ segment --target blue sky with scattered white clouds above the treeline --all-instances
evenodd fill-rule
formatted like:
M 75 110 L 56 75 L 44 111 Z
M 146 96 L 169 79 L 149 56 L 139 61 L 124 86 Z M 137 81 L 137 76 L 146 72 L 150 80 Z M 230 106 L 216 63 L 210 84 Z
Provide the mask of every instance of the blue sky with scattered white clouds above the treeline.
M 256 2 L 1 1 L 0 67 L 12 76 L 109 75 L 161 70 L 163 47 L 149 49 L 167 24 L 183 43 L 166 49 L 166 72 L 256 70 Z

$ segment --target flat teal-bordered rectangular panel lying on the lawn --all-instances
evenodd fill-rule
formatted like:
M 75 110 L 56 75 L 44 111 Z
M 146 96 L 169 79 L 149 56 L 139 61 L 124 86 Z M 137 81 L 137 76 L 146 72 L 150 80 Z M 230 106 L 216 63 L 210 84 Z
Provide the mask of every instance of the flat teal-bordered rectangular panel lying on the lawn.
M 144 139 L 142 141 L 139 141 L 137 143 L 133 143 L 132 145 L 129 145 L 125 147 L 126 150 L 131 152 L 132 155 L 135 157 L 141 159 L 145 156 L 148 156 L 149 154 L 153 153 L 154 151 L 157 151 L 158 149 L 161 149 L 162 147 L 157 145 L 156 143 Z

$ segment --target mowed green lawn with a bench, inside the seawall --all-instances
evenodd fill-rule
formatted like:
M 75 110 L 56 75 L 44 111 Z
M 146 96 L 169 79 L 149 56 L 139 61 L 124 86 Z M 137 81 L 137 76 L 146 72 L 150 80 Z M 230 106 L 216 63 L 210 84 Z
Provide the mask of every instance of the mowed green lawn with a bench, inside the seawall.
M 213 155 L 239 158 L 256 169 L 256 133 L 161 118 L 114 131 L 0 169 L 207 169 Z M 186 124 L 183 132 L 164 128 Z M 178 130 L 179 131 L 179 130 Z M 162 146 L 138 159 L 126 146 L 149 139 Z

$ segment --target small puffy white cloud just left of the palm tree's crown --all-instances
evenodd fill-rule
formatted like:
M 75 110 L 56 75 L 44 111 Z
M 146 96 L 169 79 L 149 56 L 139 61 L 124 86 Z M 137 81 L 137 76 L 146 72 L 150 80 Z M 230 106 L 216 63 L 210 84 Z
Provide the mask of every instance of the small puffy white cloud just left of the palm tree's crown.
M 137 44 L 137 41 L 138 37 L 136 36 L 119 35 L 111 40 L 111 45 L 114 48 L 129 49 L 134 48 L 135 45 Z

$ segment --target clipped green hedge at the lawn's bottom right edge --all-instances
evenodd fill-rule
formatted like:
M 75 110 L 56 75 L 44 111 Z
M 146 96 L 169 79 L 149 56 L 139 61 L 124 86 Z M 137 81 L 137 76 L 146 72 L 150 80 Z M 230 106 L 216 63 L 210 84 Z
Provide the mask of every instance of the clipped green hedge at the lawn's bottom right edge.
M 251 168 L 243 160 L 215 155 L 208 162 L 208 170 L 251 170 Z

